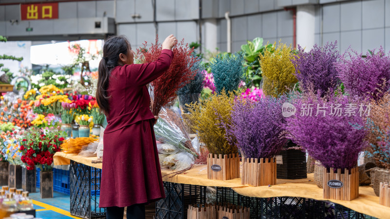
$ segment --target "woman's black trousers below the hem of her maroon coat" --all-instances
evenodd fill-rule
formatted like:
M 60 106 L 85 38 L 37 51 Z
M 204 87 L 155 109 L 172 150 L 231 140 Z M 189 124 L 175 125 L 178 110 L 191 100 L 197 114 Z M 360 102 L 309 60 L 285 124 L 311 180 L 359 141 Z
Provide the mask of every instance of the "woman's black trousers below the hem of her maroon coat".
M 124 207 L 107 207 L 106 218 L 107 219 L 123 219 Z M 145 219 L 145 205 L 133 204 L 127 207 L 126 210 L 127 219 Z

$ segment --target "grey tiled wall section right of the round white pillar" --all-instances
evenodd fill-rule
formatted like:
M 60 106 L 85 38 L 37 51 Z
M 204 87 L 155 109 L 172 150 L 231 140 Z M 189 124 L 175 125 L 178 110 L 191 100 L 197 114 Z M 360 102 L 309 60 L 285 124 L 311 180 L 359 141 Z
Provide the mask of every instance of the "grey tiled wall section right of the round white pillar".
M 363 53 L 379 46 L 389 51 L 390 0 L 333 2 L 317 7 L 315 42 L 325 44 L 334 40 L 338 41 L 341 52 L 349 46 Z

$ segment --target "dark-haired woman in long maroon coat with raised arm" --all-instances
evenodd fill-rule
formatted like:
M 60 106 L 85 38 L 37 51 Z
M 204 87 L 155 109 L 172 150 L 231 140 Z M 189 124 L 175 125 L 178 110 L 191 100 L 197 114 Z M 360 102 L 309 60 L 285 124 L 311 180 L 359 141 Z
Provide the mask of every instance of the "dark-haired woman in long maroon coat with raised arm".
M 172 62 L 171 35 L 155 62 L 133 64 L 134 52 L 123 36 L 106 39 L 99 63 L 96 99 L 107 116 L 99 207 L 107 219 L 145 218 L 145 204 L 165 198 L 146 85 Z

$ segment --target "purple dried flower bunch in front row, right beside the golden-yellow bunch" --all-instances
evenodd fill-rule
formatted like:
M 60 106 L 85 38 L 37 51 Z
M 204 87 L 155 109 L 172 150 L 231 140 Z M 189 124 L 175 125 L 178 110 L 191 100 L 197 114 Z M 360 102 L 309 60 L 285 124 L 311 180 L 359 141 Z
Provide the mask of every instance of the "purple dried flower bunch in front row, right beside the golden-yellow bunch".
M 265 96 L 258 99 L 236 99 L 227 135 L 234 136 L 245 157 L 272 158 L 287 143 L 283 134 L 286 119 L 281 111 L 286 98 Z

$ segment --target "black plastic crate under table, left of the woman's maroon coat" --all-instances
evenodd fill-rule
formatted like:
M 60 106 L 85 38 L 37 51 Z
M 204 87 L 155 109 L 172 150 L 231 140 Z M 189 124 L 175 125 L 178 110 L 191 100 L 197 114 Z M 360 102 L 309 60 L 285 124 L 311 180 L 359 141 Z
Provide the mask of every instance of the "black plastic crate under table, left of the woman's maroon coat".
M 99 208 L 101 169 L 70 162 L 70 214 L 85 219 L 105 219 Z

